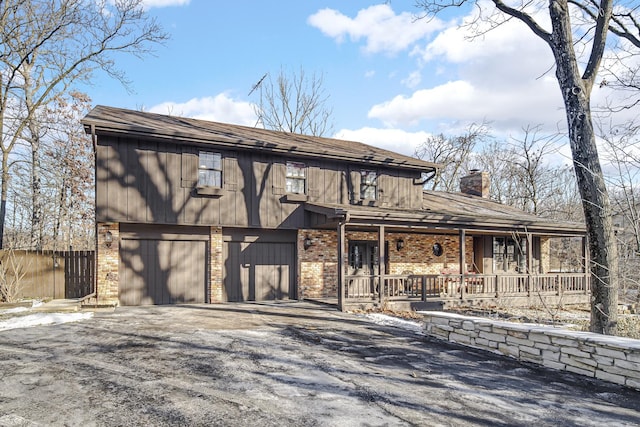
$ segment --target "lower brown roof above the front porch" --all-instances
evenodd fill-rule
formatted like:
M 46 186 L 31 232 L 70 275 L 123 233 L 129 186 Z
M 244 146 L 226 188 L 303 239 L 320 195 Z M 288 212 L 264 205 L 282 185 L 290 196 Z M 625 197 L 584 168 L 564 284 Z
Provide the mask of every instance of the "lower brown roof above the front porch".
M 582 223 L 542 218 L 498 202 L 463 193 L 424 191 L 422 209 L 400 209 L 362 205 L 306 203 L 305 209 L 325 215 L 329 222 L 348 217 L 349 223 L 380 222 L 411 228 L 483 230 L 509 233 L 537 232 L 582 235 Z

